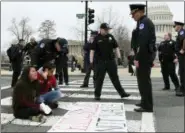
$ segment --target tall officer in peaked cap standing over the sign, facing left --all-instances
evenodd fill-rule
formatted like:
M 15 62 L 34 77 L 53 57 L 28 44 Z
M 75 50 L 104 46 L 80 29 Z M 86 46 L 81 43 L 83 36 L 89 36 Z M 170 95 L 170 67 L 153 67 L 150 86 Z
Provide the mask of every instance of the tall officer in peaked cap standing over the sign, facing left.
M 137 22 L 137 52 L 134 64 L 137 68 L 138 88 L 141 95 L 141 103 L 136 104 L 140 108 L 136 112 L 153 112 L 151 67 L 156 55 L 156 36 L 153 22 L 145 16 L 145 5 L 131 4 L 132 18 Z

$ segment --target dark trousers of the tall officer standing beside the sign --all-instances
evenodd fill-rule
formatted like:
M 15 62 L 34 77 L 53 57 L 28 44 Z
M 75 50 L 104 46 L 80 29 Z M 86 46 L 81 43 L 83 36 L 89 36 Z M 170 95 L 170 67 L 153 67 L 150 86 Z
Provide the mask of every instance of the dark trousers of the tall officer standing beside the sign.
M 139 63 L 137 68 L 138 88 L 141 95 L 141 106 L 147 110 L 153 110 L 152 84 L 151 84 L 151 65 Z

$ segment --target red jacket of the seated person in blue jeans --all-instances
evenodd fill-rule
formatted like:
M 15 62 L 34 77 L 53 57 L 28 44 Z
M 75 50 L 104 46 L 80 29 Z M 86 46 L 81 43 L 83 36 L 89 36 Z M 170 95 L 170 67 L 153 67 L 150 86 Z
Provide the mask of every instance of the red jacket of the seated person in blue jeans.
M 37 78 L 41 85 L 41 95 L 47 93 L 51 88 L 56 88 L 57 82 L 55 76 L 50 76 L 45 80 L 40 73 L 37 73 Z

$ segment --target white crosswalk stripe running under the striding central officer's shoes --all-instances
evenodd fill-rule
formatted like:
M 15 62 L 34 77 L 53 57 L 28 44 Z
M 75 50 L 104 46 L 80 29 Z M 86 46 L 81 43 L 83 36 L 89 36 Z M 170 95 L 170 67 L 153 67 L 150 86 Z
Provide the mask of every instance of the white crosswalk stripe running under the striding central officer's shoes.
M 73 94 L 70 96 L 70 98 L 94 98 L 94 95 L 88 95 L 88 94 Z M 118 95 L 102 95 L 102 99 L 121 99 L 121 97 Z M 128 100 L 141 100 L 140 96 L 130 96 L 126 97 L 123 99 L 128 99 Z

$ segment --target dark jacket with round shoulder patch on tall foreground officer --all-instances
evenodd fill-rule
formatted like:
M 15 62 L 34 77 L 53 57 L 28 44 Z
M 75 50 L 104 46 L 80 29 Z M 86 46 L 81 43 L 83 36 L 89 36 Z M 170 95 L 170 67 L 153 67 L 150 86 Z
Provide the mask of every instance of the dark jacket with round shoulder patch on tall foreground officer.
M 139 62 L 152 63 L 157 50 L 154 24 L 149 18 L 143 16 L 137 22 L 136 30 L 138 50 L 135 58 Z

